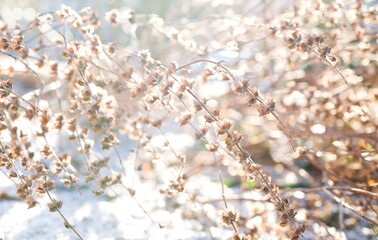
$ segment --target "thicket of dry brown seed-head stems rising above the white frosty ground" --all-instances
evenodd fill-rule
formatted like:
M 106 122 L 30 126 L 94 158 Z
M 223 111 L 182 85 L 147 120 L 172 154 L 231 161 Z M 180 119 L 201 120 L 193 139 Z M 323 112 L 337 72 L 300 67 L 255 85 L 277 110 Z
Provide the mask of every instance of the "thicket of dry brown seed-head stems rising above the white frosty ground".
M 187 15 L 172 21 L 62 6 L 26 25 L 0 22 L 0 56 L 11 63 L 0 69 L 0 169 L 18 197 L 33 208 L 47 195 L 79 239 L 51 194 L 57 185 L 129 196 L 163 228 L 138 199 L 135 179 L 153 178 L 167 202 L 213 204 L 218 219 L 196 218 L 204 229 L 232 228 L 232 239 L 342 239 L 362 228 L 373 239 L 377 6 L 214 2 L 183 3 Z M 123 42 L 104 41 L 105 28 L 122 29 Z M 32 89 L 17 90 L 26 81 Z M 193 141 L 178 148 L 172 133 Z M 220 190 L 204 199 L 187 185 L 209 170 Z M 227 194 L 228 179 L 239 195 Z

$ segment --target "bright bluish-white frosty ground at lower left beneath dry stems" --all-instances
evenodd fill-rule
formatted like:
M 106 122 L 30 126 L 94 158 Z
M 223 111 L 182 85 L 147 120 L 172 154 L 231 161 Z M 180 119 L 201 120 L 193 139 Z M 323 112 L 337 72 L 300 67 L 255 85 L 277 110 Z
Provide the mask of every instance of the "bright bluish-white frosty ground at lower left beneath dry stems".
M 4 176 L 4 183 L 9 182 Z M 145 184 L 145 188 L 152 184 Z M 141 190 L 138 201 L 154 219 L 166 227 L 160 229 L 130 197 L 95 198 L 89 188 L 77 191 L 57 189 L 54 194 L 63 201 L 62 212 L 71 221 L 84 239 L 207 239 L 198 221 L 184 221 L 180 210 L 165 209 L 161 196 Z M 27 209 L 27 204 L 18 200 L 0 201 L 0 237 L 3 239 L 77 239 L 63 226 L 57 213 L 50 213 L 47 198 L 39 199 L 40 205 Z M 156 207 L 158 205 L 160 207 Z M 192 206 L 194 209 L 195 207 Z M 194 210 L 195 211 L 195 210 Z

